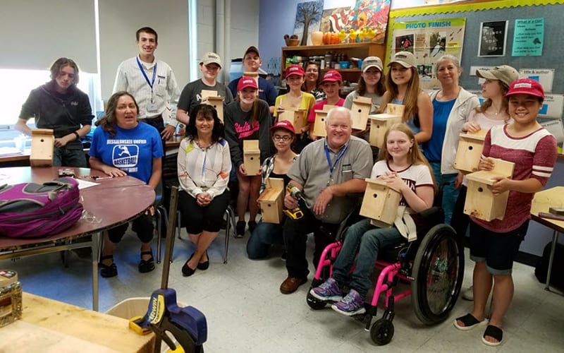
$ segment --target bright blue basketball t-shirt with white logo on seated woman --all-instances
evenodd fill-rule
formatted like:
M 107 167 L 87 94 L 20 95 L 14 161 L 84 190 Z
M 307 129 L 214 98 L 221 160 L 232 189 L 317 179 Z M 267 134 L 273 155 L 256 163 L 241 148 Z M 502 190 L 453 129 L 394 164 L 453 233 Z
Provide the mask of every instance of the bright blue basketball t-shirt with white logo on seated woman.
M 143 122 L 131 129 L 115 128 L 116 136 L 113 138 L 108 131 L 97 128 L 88 155 L 148 183 L 152 175 L 153 158 L 164 155 L 159 131 Z

